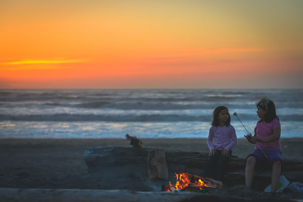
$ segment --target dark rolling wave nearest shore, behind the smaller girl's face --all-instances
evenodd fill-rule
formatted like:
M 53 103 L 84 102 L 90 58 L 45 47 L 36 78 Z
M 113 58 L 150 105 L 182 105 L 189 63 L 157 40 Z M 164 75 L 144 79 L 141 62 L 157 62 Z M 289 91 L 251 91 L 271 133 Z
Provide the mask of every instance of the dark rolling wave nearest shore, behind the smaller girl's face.
M 241 114 L 241 120 L 256 120 L 256 116 Z M 303 115 L 284 115 L 282 121 L 303 121 Z M 0 114 L 0 120 L 12 121 L 110 121 L 110 122 L 172 122 L 172 121 L 212 121 L 211 115 L 177 115 L 177 114 L 128 114 L 128 115 L 99 115 L 99 114 L 52 114 L 52 115 L 8 115 Z M 232 120 L 236 120 L 232 117 Z

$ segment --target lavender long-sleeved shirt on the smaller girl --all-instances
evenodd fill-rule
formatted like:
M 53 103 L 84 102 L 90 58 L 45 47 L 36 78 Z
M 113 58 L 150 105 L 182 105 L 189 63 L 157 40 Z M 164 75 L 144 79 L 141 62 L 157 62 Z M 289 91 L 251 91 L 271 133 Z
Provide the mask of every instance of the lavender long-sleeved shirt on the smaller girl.
M 213 143 L 214 142 L 214 143 Z M 236 130 L 232 125 L 228 126 L 212 126 L 210 128 L 207 145 L 210 150 L 232 150 L 237 144 Z

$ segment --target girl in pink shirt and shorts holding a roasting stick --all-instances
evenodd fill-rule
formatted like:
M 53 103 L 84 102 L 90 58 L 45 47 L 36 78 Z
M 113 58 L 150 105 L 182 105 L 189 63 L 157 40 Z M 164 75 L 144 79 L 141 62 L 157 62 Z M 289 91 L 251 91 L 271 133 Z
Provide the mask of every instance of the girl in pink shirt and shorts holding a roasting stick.
M 275 192 L 283 165 L 280 144 L 281 125 L 273 101 L 263 98 L 258 102 L 257 108 L 260 120 L 255 127 L 254 137 L 251 138 L 247 134 L 245 138 L 251 144 L 258 142 L 267 157 L 257 146 L 246 157 L 245 185 L 251 186 L 256 164 L 269 163 L 272 166 L 271 192 Z

